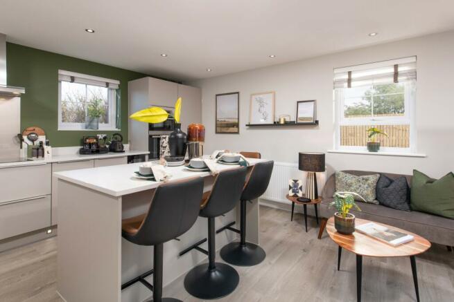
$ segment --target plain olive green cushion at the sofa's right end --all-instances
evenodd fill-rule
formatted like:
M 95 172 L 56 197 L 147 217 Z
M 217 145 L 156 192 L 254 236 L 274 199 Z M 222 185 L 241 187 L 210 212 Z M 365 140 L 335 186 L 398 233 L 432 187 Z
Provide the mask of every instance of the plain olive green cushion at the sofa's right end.
M 410 192 L 412 210 L 454 219 L 454 174 L 452 172 L 435 180 L 413 170 Z

